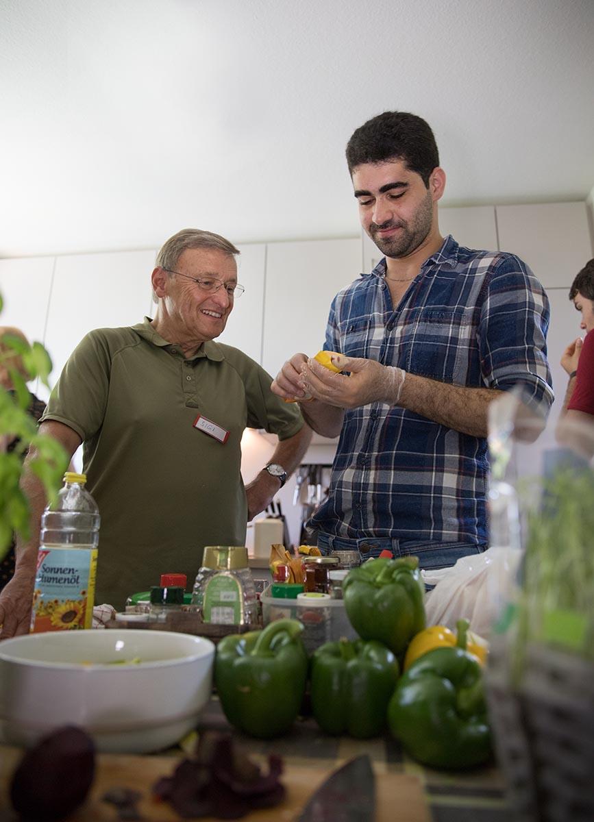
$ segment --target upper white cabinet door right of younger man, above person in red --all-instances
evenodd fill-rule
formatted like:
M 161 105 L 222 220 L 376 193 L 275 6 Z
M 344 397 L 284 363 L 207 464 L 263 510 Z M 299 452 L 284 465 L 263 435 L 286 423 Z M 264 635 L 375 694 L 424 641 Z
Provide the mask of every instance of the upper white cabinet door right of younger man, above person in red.
M 545 289 L 566 288 L 592 258 L 584 202 L 498 205 L 501 251 L 517 254 Z

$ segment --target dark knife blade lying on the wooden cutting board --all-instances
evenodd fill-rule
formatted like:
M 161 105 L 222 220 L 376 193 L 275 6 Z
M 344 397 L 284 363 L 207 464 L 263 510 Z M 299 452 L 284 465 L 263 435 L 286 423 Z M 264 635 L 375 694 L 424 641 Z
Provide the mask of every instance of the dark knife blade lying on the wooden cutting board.
M 297 822 L 373 822 L 375 778 L 369 755 L 355 756 L 318 787 Z

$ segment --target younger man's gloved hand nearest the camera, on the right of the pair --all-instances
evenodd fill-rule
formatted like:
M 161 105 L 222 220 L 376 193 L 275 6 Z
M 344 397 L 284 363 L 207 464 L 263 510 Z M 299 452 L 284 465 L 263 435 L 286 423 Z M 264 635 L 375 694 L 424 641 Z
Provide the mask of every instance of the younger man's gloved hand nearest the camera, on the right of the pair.
M 401 368 L 342 354 L 334 358 L 334 363 L 341 371 L 350 372 L 349 376 L 328 371 L 310 358 L 301 365 L 299 385 L 314 399 L 341 409 L 374 402 L 398 404 L 406 373 Z

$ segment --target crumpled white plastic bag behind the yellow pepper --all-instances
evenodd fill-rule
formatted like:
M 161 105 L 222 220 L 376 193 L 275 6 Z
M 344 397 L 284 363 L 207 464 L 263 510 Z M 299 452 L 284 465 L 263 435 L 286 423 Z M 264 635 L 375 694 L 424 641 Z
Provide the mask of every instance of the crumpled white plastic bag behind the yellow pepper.
M 421 571 L 426 584 L 435 584 L 425 601 L 427 625 L 456 630 L 457 620 L 467 619 L 472 631 L 490 639 L 520 556 L 517 548 L 490 547 L 481 554 L 462 556 L 450 568 Z

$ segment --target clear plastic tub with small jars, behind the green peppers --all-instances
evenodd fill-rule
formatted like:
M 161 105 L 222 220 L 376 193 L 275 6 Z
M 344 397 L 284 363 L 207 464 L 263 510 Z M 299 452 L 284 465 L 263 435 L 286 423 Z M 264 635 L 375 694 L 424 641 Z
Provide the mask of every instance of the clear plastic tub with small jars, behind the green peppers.
M 340 640 L 357 640 L 353 626 L 346 616 L 345 603 L 341 599 L 325 596 L 304 597 L 296 599 L 278 599 L 271 596 L 271 586 L 260 596 L 262 603 L 262 624 L 288 618 L 303 622 L 304 632 L 301 635 L 305 649 L 312 653 L 324 642 Z

